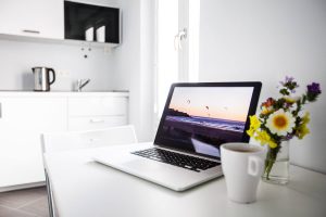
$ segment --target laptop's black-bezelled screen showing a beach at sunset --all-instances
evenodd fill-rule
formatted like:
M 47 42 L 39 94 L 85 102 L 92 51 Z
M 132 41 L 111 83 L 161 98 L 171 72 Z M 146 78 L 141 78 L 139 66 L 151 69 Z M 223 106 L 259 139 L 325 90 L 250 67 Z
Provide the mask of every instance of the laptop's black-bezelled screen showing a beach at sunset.
M 220 158 L 221 144 L 249 141 L 260 90 L 260 82 L 173 85 L 154 143 Z

